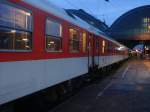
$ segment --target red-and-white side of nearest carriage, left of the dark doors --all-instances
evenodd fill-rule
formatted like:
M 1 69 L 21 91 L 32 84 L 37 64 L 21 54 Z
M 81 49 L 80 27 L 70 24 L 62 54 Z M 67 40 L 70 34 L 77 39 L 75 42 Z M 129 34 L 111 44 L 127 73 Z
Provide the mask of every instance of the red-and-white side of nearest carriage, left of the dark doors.
M 24 2 L 0 5 L 0 104 L 88 72 L 87 31 Z

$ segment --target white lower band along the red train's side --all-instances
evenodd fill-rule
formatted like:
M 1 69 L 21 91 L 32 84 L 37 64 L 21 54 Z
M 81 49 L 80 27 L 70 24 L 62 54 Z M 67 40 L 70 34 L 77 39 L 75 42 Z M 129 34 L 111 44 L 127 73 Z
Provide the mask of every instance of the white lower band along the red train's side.
M 105 58 L 105 61 L 103 59 Z M 108 61 L 107 59 L 110 58 Z M 123 56 L 103 56 L 99 67 Z M 107 64 L 106 64 L 107 61 Z M 18 99 L 88 72 L 88 57 L 0 63 L 0 104 Z

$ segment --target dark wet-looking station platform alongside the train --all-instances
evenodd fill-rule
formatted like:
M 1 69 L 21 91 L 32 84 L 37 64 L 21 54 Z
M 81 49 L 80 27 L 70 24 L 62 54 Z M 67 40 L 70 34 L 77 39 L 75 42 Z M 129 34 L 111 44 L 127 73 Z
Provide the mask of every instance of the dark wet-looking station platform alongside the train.
M 150 112 L 150 61 L 126 62 L 49 112 Z

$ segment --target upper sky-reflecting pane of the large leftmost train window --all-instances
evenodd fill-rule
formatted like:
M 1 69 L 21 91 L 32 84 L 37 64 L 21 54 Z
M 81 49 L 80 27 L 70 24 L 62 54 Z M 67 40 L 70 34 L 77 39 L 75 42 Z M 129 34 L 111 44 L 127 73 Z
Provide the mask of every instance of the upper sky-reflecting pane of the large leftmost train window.
M 0 26 L 32 31 L 32 15 L 23 9 L 0 3 Z

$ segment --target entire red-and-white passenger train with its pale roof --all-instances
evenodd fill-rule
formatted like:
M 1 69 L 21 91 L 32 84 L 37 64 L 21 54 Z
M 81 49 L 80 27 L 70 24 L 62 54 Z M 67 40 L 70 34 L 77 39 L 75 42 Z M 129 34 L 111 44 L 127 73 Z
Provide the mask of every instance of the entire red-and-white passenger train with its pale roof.
M 0 105 L 128 58 L 128 48 L 44 0 L 0 1 Z

